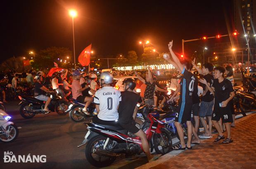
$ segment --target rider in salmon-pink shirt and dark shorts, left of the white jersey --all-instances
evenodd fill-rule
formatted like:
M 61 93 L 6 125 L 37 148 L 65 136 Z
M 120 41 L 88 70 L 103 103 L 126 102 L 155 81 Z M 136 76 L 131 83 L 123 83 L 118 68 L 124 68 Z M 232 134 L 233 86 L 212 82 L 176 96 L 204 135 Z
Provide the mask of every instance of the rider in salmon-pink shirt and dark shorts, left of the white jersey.
M 90 88 L 88 85 L 86 85 L 84 88 L 81 88 L 81 85 L 79 83 L 79 80 L 81 78 L 81 74 L 80 72 L 78 72 L 77 70 L 75 70 L 73 73 L 73 81 L 72 81 L 72 96 L 74 100 L 77 100 L 78 102 L 86 102 L 85 107 L 83 108 L 83 112 L 86 115 L 90 115 L 90 113 L 87 111 L 88 106 L 90 105 L 90 103 L 92 102 L 92 97 L 88 97 L 88 96 L 83 96 L 82 92 L 87 89 Z

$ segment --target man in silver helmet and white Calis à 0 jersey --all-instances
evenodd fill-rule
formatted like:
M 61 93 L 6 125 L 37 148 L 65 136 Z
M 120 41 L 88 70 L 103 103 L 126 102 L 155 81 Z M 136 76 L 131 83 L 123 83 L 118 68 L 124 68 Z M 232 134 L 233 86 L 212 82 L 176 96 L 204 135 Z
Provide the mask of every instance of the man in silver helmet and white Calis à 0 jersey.
M 117 112 L 121 93 L 111 86 L 113 76 L 109 72 L 100 75 L 102 88 L 97 90 L 93 102 L 96 104 L 98 115 L 92 121 L 103 125 L 116 125 L 119 118 Z

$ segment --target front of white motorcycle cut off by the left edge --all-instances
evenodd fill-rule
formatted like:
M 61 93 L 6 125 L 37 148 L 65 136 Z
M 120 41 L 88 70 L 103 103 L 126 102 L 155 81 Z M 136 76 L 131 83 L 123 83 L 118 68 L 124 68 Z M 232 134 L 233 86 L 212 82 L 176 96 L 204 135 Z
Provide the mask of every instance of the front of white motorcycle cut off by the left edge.
M 19 134 L 16 125 L 9 121 L 12 117 L 5 111 L 0 110 L 0 141 L 10 143 L 14 141 Z

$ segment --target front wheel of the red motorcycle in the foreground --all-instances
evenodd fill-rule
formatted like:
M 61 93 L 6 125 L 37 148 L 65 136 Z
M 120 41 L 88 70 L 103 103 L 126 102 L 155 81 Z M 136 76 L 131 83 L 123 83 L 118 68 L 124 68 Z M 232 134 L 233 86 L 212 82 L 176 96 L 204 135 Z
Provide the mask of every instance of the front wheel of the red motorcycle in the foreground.
M 168 144 L 163 145 L 164 141 L 166 141 Z M 164 155 L 166 153 L 169 153 L 172 150 L 172 147 L 173 147 L 173 142 L 172 142 L 171 135 L 166 130 L 162 130 L 161 135 L 160 134 L 154 134 L 153 143 L 154 143 L 154 149 L 155 149 L 157 154 Z

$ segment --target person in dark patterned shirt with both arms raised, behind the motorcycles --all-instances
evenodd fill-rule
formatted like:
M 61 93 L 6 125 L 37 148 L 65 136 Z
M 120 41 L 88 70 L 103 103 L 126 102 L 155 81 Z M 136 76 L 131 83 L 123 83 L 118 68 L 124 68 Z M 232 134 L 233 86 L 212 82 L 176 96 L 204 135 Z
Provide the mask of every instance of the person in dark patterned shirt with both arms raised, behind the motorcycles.
M 142 83 L 147 85 L 144 93 L 145 105 L 154 105 L 154 91 L 156 83 L 154 83 L 152 72 L 150 71 L 149 66 L 147 67 L 147 71 L 146 80 L 139 76 L 137 72 L 135 72 L 135 75 L 140 81 L 142 81 Z

